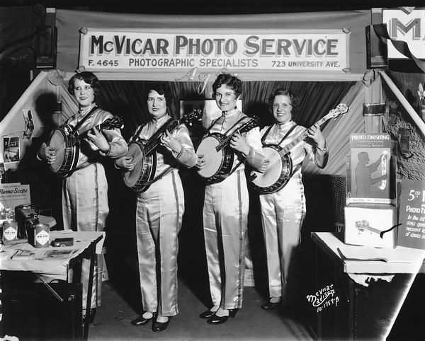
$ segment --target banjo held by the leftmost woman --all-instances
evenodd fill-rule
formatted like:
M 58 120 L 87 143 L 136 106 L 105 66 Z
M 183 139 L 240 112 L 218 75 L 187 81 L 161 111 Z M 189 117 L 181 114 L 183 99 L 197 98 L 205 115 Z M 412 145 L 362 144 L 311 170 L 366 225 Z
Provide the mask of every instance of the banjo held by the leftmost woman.
M 123 127 L 123 119 L 119 116 L 108 118 L 100 125 L 95 126 L 99 131 L 102 129 L 115 129 Z M 49 165 L 50 171 L 56 175 L 67 178 L 76 171 L 79 159 L 79 143 L 82 139 L 86 138 L 87 133 L 92 129 L 86 130 L 81 134 L 75 132 L 75 128 L 71 125 L 61 125 L 53 129 L 50 134 L 48 145 L 53 147 L 56 151 L 55 162 Z

